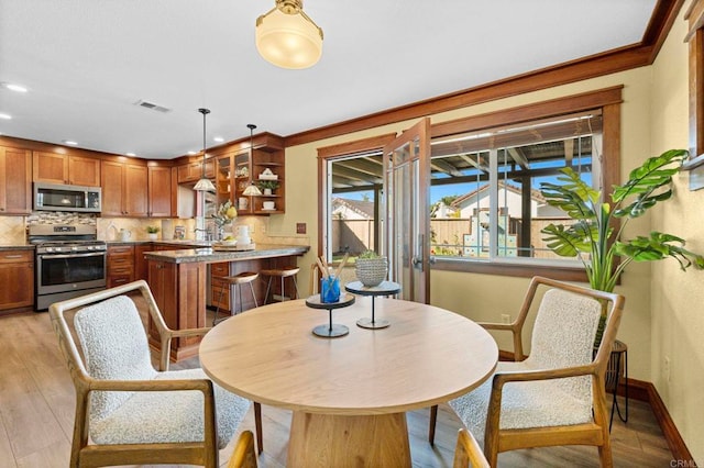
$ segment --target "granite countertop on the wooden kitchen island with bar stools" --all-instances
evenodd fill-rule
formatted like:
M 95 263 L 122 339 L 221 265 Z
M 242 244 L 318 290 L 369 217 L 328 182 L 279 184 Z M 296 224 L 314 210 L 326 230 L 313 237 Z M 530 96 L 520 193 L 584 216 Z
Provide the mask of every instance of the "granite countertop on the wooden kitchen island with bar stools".
M 170 243 L 167 243 L 170 244 Z M 147 252 L 147 260 L 160 260 L 172 264 L 217 263 L 249 260 L 251 258 L 287 257 L 304 255 L 310 249 L 308 245 L 257 244 L 253 250 L 215 250 L 212 248 L 184 248 L 180 250 Z

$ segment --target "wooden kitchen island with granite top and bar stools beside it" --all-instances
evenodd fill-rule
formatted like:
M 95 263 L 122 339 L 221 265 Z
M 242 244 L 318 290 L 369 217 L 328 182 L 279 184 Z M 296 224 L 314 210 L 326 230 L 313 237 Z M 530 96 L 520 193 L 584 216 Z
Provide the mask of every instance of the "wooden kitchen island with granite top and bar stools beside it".
M 310 247 L 301 245 L 257 244 L 253 250 L 217 250 L 186 248 L 146 252 L 148 285 L 164 321 L 172 330 L 209 326 L 206 319 L 208 265 L 228 263 L 229 275 L 256 271 L 284 265 L 296 265 L 296 257 Z M 257 282 L 257 299 L 264 299 L 264 287 Z M 260 302 L 261 303 L 261 302 Z M 150 321 L 150 344 L 161 346 L 156 326 Z M 178 361 L 198 354 L 199 337 L 172 342 L 172 360 Z

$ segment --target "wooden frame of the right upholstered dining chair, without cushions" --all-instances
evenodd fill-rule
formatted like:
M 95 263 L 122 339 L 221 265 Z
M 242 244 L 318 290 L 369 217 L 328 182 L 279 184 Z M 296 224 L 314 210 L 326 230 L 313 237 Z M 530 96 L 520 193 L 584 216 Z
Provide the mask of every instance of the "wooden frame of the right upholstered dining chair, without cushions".
M 492 380 L 492 392 L 486 417 L 484 436 L 484 454 L 491 466 L 496 466 L 497 456 L 502 452 L 518 448 L 547 447 L 556 445 L 594 445 L 598 448 L 602 467 L 612 467 L 612 446 L 608 434 L 608 409 L 606 405 L 606 368 L 612 346 L 616 339 L 618 324 L 624 309 L 625 299 L 620 294 L 597 291 L 590 288 L 570 285 L 549 278 L 534 277 L 524 298 L 522 305 L 516 320 L 510 324 L 480 323 L 486 330 L 506 331 L 513 333 L 514 360 L 526 358 L 522 346 L 522 327 L 528 312 L 540 286 L 561 289 L 576 294 L 594 298 L 606 308 L 606 324 L 604 335 L 592 363 L 584 366 L 566 367 L 536 371 L 499 371 Z M 531 427 L 520 430 L 501 430 L 502 391 L 508 382 L 560 379 L 566 377 L 592 377 L 592 409 L 594 421 L 584 424 Z M 435 437 L 435 424 L 438 408 L 431 408 L 429 439 Z

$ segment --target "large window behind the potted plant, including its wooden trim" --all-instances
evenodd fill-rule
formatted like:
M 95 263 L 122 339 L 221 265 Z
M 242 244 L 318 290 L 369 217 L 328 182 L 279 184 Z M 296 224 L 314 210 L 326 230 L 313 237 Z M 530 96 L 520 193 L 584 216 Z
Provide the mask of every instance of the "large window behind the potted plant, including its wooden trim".
M 433 125 L 431 250 L 435 268 L 583 279 L 541 229 L 572 220 L 540 183 L 571 167 L 596 189 L 619 179 L 620 88 Z

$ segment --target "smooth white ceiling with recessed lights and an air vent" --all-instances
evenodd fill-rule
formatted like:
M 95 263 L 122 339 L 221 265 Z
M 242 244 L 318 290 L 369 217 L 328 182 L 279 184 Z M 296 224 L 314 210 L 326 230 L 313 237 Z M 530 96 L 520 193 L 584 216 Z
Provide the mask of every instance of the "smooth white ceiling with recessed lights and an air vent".
M 173 158 L 282 136 L 639 42 L 656 0 L 306 0 L 320 62 L 276 68 L 254 45 L 274 0 L 2 0 L 0 133 Z M 135 105 L 144 100 L 162 113 Z

